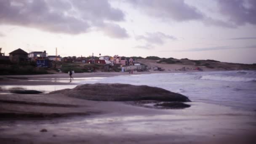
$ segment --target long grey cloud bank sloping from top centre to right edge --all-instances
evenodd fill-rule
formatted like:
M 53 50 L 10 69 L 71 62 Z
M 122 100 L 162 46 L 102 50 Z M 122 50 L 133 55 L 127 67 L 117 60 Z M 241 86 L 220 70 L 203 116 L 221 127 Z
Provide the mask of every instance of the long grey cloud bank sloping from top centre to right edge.
M 217 13 L 227 21 L 207 16 L 184 0 L 127 0 L 142 13 L 163 21 L 200 21 L 205 26 L 236 28 L 245 23 L 256 24 L 256 0 L 218 0 Z

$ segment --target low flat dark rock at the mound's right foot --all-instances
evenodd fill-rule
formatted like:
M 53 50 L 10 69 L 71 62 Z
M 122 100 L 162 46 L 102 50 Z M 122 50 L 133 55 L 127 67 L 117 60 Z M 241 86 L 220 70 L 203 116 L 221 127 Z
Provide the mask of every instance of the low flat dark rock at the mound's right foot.
M 189 104 L 184 104 L 182 102 L 164 102 L 160 104 L 155 104 L 155 107 L 162 107 L 163 109 L 184 109 L 190 107 Z

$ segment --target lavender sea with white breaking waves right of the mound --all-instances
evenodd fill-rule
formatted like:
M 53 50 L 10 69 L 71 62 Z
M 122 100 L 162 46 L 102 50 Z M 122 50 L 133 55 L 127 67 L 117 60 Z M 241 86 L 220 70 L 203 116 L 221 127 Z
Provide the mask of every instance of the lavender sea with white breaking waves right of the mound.
M 256 71 L 120 75 L 80 83 L 149 85 L 181 93 L 192 101 L 256 110 Z

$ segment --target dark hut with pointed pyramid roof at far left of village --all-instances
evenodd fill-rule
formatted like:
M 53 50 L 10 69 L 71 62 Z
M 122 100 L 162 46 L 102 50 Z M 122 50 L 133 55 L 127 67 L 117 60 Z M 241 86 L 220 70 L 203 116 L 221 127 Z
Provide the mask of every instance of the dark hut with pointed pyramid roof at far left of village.
M 9 59 L 13 63 L 29 62 L 28 53 L 21 48 L 16 49 L 9 53 Z

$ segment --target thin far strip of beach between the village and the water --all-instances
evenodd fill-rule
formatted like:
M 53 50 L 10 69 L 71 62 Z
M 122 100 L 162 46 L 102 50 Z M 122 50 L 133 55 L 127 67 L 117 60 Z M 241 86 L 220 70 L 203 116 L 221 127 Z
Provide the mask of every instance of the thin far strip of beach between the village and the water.
M 75 73 L 72 75 L 75 80 L 89 77 L 115 77 L 120 75 L 147 75 L 147 74 L 166 74 L 166 73 L 189 73 L 189 72 L 228 72 L 240 70 L 188 70 L 188 71 L 149 71 L 149 72 L 92 72 L 92 73 Z M 248 70 L 250 71 L 250 70 Z M 253 71 L 253 70 L 251 70 Z M 47 75 L 1 75 L 0 85 L 77 85 L 77 83 L 58 82 L 59 80 L 69 81 L 69 75 L 66 73 L 47 74 Z M 39 83 L 40 82 L 40 83 Z

